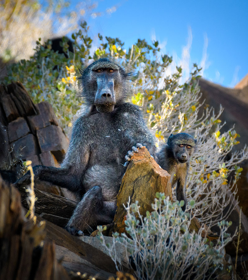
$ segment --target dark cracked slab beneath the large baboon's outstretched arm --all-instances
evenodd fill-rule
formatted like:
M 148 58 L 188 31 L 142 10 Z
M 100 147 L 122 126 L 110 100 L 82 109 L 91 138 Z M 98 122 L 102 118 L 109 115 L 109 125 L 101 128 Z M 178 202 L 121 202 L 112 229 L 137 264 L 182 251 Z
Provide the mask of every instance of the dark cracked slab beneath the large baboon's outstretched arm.
M 19 187 L 19 191 L 21 193 L 22 205 L 29 209 L 26 201 L 27 192 L 25 188 Z M 34 193 L 37 198 L 35 202 L 35 212 L 38 214 L 47 213 L 62 218 L 70 218 L 76 207 L 76 202 L 56 194 L 49 194 L 38 189 L 34 189 Z

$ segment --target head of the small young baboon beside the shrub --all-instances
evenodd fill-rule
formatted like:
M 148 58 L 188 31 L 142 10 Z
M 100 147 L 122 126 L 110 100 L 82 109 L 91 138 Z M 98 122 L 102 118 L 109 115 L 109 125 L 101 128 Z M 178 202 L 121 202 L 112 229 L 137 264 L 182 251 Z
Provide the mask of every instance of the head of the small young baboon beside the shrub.
M 180 163 L 185 163 L 196 146 L 196 140 L 187 133 L 178 133 L 176 135 L 171 134 L 167 144 L 171 147 L 174 157 Z

